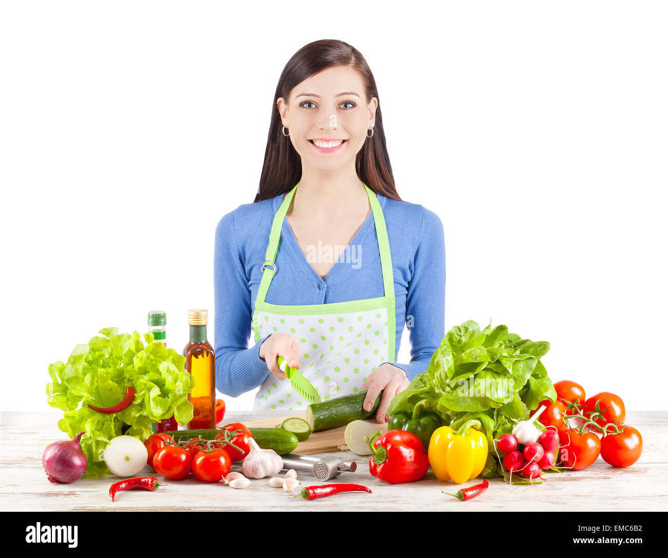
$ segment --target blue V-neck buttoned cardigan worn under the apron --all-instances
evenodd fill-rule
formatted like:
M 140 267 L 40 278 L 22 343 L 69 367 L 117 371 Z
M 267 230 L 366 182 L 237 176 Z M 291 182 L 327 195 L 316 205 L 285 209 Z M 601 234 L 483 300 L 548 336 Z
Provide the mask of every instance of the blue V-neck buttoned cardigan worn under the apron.
M 418 204 L 377 196 L 383 210 L 392 256 L 396 305 L 395 359 L 403 325 L 409 328 L 411 362 L 395 366 L 409 380 L 427 369 L 445 335 L 445 241 L 438 216 Z M 214 253 L 214 350 L 216 389 L 236 397 L 257 388 L 269 374 L 259 357 L 263 339 L 248 346 L 251 319 L 262 278 L 261 267 L 269 231 L 283 195 L 244 204 L 220 219 Z M 315 272 L 301 251 L 292 229 L 283 221 L 276 257 L 278 273 L 267 302 L 308 305 L 383 296 L 378 241 L 373 214 L 350 242 L 355 251 L 344 253 L 325 279 Z

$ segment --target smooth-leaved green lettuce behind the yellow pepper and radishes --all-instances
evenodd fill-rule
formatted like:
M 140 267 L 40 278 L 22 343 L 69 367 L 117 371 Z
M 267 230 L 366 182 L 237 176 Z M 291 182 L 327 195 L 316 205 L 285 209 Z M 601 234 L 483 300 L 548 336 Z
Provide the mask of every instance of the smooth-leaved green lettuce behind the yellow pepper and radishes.
M 496 476 L 494 438 L 512 432 L 541 401 L 556 399 L 540 362 L 549 349 L 547 341 L 523 339 L 505 325 L 480 329 L 475 321 L 466 321 L 446 333 L 428 369 L 393 398 L 388 413 L 411 413 L 426 399 L 453 428 L 477 418 L 491 452 L 483 475 Z

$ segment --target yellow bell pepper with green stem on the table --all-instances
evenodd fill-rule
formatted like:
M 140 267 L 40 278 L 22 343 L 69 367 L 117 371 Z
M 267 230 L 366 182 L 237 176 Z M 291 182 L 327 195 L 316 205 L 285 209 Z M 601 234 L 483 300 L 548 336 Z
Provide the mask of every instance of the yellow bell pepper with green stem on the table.
M 479 420 L 469 420 L 457 432 L 450 426 L 434 430 L 429 442 L 429 464 L 441 480 L 462 484 L 478 476 L 487 461 L 487 438 Z

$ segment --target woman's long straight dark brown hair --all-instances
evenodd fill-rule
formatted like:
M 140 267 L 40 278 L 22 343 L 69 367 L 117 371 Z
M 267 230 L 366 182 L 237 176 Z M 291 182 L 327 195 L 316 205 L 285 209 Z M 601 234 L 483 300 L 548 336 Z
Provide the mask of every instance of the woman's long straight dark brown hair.
M 322 72 L 323 69 L 338 65 L 351 66 L 359 72 L 364 83 L 367 103 L 373 97 L 378 100 L 373 136 L 365 140 L 355 158 L 357 176 L 374 192 L 395 200 L 401 199 L 394 185 L 392 166 L 387 155 L 380 100 L 371 69 L 355 47 L 343 41 L 323 39 L 301 47 L 283 68 L 271 106 L 265 164 L 260 177 L 260 187 L 255 196 L 256 202 L 289 192 L 301 178 L 301 157 L 290 138 L 284 136 L 281 131 L 283 122 L 276 107 L 277 100 L 281 97 L 287 100 L 293 88 L 301 82 Z

